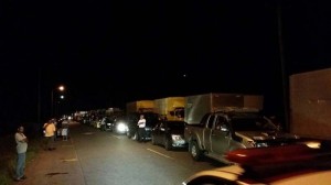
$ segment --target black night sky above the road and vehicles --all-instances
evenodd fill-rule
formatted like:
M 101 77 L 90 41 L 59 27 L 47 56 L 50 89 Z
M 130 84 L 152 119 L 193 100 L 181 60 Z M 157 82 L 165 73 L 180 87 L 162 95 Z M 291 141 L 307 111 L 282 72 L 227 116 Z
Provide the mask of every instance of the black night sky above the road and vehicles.
M 47 118 L 61 84 L 63 111 L 213 91 L 279 113 L 282 75 L 330 67 L 323 2 L 4 0 L 0 122 L 35 121 L 38 105 Z

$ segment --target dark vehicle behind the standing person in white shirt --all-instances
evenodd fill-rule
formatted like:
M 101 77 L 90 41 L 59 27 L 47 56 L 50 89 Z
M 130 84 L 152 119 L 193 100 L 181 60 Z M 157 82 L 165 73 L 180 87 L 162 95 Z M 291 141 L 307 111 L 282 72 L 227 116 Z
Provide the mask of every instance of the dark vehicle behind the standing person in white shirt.
M 151 130 L 156 127 L 157 122 L 160 120 L 160 116 L 154 112 L 132 112 L 127 115 L 128 130 L 127 137 L 134 140 L 138 135 L 138 120 L 140 115 L 145 116 L 146 119 L 146 140 L 151 140 Z

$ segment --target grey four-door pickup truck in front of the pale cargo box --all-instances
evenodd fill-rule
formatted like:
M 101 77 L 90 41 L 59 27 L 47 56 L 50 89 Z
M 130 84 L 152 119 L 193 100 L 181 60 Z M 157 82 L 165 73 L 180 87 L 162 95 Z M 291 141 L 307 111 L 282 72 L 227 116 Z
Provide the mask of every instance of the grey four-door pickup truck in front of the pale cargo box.
M 223 163 L 231 163 L 225 155 L 236 149 L 285 145 L 300 139 L 280 131 L 258 111 L 248 109 L 206 113 L 200 124 L 186 124 L 184 138 L 195 161 L 205 155 Z

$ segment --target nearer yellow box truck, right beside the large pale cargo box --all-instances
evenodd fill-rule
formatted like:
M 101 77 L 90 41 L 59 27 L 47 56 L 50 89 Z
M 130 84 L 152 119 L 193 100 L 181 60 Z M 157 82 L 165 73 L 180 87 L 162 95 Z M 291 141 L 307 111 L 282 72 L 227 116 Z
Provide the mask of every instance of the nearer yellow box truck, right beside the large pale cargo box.
M 154 112 L 167 120 L 184 120 L 184 97 L 154 99 Z

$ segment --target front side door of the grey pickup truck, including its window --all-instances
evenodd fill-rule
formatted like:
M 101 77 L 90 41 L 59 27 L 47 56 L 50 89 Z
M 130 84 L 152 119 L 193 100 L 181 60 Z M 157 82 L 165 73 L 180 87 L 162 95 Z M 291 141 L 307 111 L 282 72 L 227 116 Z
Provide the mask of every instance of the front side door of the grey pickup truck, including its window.
M 223 116 L 217 116 L 215 127 L 211 132 L 211 151 L 214 154 L 223 155 L 228 151 L 231 143 L 231 134 L 228 124 Z

